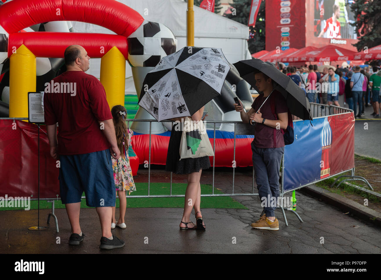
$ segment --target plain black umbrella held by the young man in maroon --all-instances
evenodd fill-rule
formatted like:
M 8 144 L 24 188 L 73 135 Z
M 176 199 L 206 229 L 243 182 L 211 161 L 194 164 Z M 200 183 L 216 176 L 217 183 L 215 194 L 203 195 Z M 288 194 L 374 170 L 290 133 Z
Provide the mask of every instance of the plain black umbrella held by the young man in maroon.
M 286 99 L 291 114 L 303 120 L 312 120 L 310 104 L 304 90 L 299 88 L 290 77 L 280 72 L 272 64 L 263 62 L 261 59 L 248 59 L 241 60 L 233 65 L 237 68 L 241 77 L 257 91 L 254 74 L 262 72 L 267 75 L 274 81 L 274 89 L 279 91 Z

